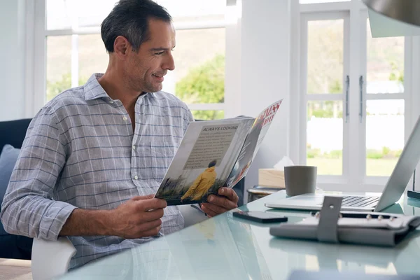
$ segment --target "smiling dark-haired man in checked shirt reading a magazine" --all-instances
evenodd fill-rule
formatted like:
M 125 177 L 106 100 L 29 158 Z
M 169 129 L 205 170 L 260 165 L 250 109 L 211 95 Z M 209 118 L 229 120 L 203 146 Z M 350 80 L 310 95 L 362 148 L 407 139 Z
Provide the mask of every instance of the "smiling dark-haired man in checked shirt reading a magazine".
M 68 236 L 71 268 L 183 228 L 178 207 L 153 198 L 193 121 L 160 91 L 175 67 L 172 18 L 153 1 L 122 0 L 101 33 L 108 69 L 36 114 L 1 211 L 7 232 Z M 235 192 L 219 194 L 202 204 L 209 216 L 237 206 Z

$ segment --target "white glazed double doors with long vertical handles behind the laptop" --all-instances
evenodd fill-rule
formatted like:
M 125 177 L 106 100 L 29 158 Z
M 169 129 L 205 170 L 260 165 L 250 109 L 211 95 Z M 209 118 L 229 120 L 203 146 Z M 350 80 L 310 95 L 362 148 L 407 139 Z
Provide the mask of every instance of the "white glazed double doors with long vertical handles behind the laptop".
M 300 0 L 309 2 L 300 5 L 300 162 L 318 167 L 321 188 L 382 190 L 407 139 L 406 39 L 372 38 L 358 0 Z

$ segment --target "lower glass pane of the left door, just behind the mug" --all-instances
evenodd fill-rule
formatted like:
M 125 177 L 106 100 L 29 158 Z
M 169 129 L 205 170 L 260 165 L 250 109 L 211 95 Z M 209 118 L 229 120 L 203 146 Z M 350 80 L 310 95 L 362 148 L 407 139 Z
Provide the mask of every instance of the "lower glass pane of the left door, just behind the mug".
M 341 175 L 343 166 L 343 102 L 308 102 L 307 165 L 320 175 Z

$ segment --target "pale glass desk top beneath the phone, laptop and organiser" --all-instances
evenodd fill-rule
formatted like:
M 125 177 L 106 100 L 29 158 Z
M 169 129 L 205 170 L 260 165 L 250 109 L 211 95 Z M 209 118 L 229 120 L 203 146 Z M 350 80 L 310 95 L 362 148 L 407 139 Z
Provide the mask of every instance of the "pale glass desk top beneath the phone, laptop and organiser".
M 309 215 L 307 211 L 279 211 L 264 207 L 265 202 L 275 202 L 285 196 L 281 190 L 239 209 L 275 211 L 288 216 L 291 223 Z M 407 204 L 405 197 L 400 204 L 396 211 L 420 215 L 420 208 Z M 323 244 L 272 237 L 269 225 L 236 218 L 228 212 L 91 262 L 61 279 L 267 280 L 288 279 L 295 270 L 420 276 L 419 233 L 420 230 L 414 231 L 411 238 L 395 248 Z

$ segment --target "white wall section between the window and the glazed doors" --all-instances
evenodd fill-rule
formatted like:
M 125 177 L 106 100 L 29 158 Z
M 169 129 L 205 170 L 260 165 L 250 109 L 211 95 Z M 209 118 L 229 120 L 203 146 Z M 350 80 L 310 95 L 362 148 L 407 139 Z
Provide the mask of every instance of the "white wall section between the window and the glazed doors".
M 258 169 L 288 155 L 290 1 L 295 0 L 242 0 L 241 115 L 257 116 L 284 99 L 246 175 L 246 188 L 258 184 Z

